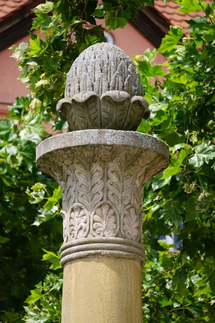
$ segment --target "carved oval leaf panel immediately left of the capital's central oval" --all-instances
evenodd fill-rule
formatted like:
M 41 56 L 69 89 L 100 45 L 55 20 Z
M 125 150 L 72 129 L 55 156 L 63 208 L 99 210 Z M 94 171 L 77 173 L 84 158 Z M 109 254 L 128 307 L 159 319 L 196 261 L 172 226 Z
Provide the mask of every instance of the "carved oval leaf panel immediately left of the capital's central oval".
M 89 231 L 89 213 L 80 203 L 74 203 L 70 209 L 69 240 L 84 238 Z

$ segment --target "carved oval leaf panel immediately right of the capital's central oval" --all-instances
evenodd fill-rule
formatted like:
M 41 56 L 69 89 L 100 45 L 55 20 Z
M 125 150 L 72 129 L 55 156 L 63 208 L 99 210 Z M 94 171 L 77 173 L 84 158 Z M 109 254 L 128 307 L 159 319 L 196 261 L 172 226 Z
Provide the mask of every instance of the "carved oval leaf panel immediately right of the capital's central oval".
M 138 241 L 140 236 L 139 218 L 133 204 L 124 208 L 120 220 L 123 236 L 127 239 Z

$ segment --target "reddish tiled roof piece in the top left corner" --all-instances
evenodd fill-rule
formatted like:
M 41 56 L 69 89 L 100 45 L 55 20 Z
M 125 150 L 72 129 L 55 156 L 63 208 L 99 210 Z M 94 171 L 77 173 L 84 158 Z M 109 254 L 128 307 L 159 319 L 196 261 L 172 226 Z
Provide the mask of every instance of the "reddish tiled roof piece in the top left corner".
M 31 2 L 30 0 L 0 0 L 0 21 Z

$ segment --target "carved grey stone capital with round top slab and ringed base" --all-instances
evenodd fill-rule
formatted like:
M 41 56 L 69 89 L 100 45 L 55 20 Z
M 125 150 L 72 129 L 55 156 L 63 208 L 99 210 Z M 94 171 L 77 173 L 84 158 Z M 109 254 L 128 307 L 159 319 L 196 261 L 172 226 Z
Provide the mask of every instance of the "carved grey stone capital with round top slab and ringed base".
M 164 142 L 132 131 L 82 130 L 46 139 L 36 159 L 62 188 L 62 266 L 88 255 L 144 265 L 143 188 L 168 166 Z

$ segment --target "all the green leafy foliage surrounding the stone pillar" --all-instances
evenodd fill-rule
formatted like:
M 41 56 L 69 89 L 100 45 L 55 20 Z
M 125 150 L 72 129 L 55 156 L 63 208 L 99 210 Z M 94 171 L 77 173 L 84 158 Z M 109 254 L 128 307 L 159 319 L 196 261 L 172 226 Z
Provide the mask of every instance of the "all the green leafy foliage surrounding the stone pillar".
M 159 48 L 164 64 L 153 64 L 155 49 L 134 57 L 151 109 L 138 131 L 170 147 L 170 166 L 144 191 L 143 322 L 214 322 L 214 4 L 175 2 L 181 12 L 205 14 L 189 21 L 190 38 L 171 27 Z M 45 123 L 59 131 L 67 127 L 55 107 L 74 59 L 104 41 L 94 17 L 104 18 L 109 30 L 124 27 L 140 6 L 151 4 L 46 1 L 34 9 L 32 29 L 40 28 L 41 36 L 30 32 L 30 44 L 12 46 L 31 97 L 17 98 L 0 120 L 2 322 L 19 323 L 23 316 L 31 323 L 60 321 L 61 190 L 36 168 L 35 147 L 48 137 Z M 93 28 L 83 28 L 89 23 Z M 175 245 L 161 240 L 172 234 Z

